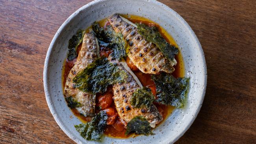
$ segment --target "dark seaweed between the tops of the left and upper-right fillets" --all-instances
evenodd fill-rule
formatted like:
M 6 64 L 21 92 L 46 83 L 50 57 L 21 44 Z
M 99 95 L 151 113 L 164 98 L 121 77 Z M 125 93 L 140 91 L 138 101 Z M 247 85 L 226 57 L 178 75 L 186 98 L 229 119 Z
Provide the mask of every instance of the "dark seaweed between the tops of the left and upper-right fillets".
M 97 22 L 92 24 L 92 28 L 99 41 L 104 42 L 104 46 L 113 50 L 111 54 L 113 58 L 120 60 L 122 57 L 126 57 L 126 46 L 122 33 L 116 33 L 110 25 L 104 30 Z

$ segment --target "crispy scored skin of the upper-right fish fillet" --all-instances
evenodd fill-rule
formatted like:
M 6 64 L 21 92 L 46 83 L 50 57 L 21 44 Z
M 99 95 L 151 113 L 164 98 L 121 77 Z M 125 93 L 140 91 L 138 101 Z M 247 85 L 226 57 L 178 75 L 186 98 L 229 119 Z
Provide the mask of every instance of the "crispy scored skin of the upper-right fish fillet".
M 141 72 L 157 74 L 160 71 L 172 73 L 173 65 L 152 42 L 147 42 L 137 28 L 122 20 L 118 14 L 108 18 L 116 32 L 121 32 L 128 43 L 128 57 Z M 176 61 L 176 60 L 175 60 Z

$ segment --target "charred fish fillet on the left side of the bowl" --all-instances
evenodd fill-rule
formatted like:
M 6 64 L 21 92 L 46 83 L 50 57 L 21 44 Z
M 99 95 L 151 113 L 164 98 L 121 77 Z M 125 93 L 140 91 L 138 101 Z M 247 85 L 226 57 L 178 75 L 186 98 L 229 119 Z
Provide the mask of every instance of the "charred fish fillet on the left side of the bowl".
M 84 116 L 92 116 L 95 110 L 95 95 L 88 92 L 83 92 L 75 88 L 73 78 L 78 74 L 80 70 L 83 70 L 90 63 L 92 63 L 96 57 L 96 40 L 93 33 L 85 33 L 83 36 L 82 48 L 78 54 L 77 60 L 74 63 L 73 68 L 69 72 L 67 81 L 65 84 L 64 95 L 66 97 L 72 96 L 75 100 L 82 104 L 82 107 L 76 109 Z

